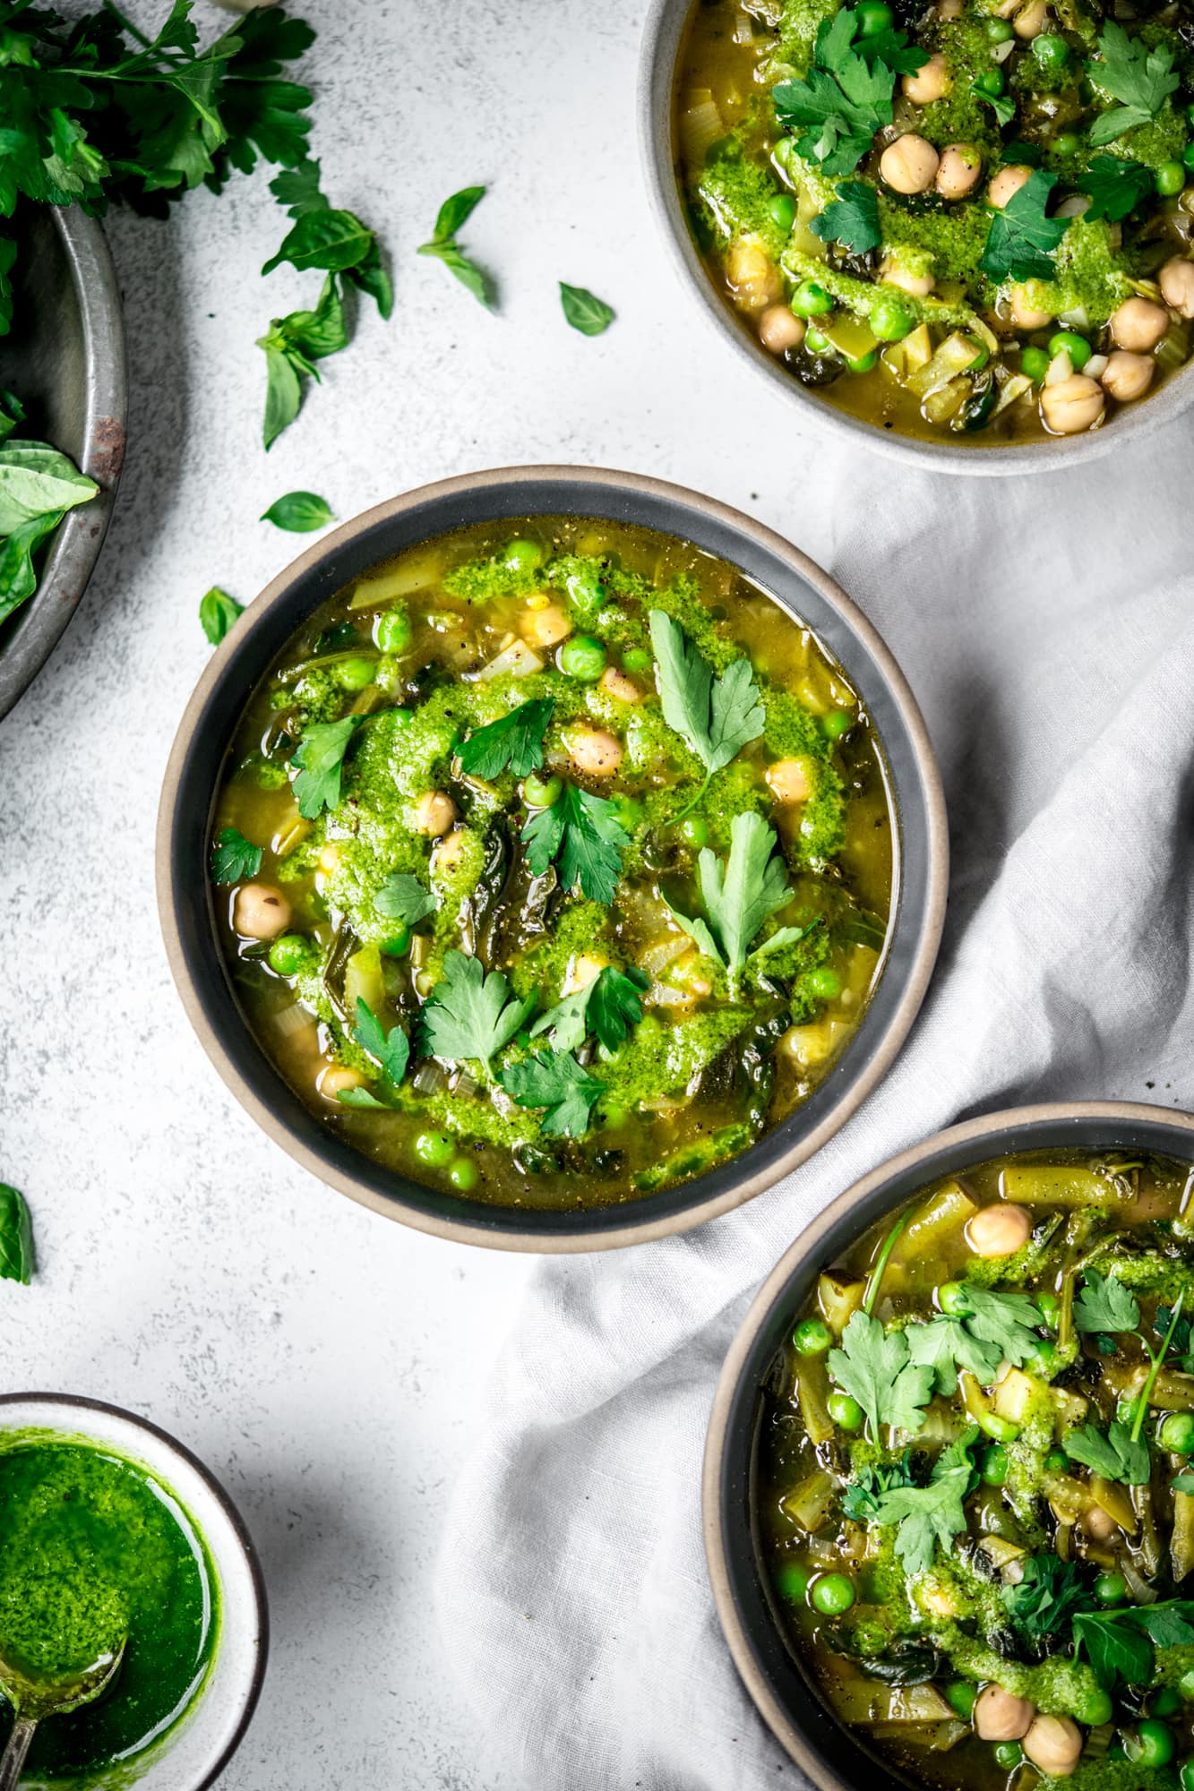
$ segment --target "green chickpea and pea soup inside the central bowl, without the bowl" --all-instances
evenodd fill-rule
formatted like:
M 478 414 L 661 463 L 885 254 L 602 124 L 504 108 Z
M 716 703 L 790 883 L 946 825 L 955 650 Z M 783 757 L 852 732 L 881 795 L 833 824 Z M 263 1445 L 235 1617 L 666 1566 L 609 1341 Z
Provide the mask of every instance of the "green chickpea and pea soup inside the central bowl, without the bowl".
M 213 824 L 224 947 L 326 1125 L 434 1187 L 604 1205 L 744 1150 L 878 974 L 891 811 L 816 638 L 683 541 L 430 541 L 253 695 Z

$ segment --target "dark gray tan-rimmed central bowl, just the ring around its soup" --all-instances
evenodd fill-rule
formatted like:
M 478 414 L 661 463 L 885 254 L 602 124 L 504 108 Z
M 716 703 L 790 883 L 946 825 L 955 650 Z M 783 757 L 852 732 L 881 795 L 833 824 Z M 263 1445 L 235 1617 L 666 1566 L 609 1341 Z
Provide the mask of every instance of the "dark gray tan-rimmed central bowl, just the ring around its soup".
M 523 1211 L 448 1196 L 371 1162 L 321 1125 L 256 1044 L 217 946 L 206 878 L 212 808 L 246 700 L 305 618 L 369 566 L 466 523 L 583 516 L 681 536 L 739 566 L 816 630 L 866 704 L 895 797 L 895 922 L 884 973 L 843 1057 L 783 1125 L 679 1187 L 599 1209 Z M 231 630 L 186 706 L 158 817 L 158 904 L 170 969 L 212 1062 L 265 1132 L 314 1175 L 420 1230 L 502 1250 L 602 1250 L 697 1225 L 803 1162 L 864 1100 L 920 1008 L 941 937 L 947 827 L 936 763 L 900 668 L 866 616 L 803 553 L 678 485 L 590 467 L 513 467 L 425 485 L 326 536 Z

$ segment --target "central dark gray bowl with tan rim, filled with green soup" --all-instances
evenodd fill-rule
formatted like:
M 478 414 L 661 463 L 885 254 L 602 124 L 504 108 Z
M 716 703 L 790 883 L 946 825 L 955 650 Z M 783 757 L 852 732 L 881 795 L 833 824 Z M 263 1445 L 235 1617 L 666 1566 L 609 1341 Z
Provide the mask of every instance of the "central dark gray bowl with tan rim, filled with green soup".
M 593 1248 L 816 1150 L 920 1003 L 923 724 L 801 553 L 678 487 L 428 487 L 299 559 L 183 720 L 160 906 L 249 1110 L 376 1211 Z

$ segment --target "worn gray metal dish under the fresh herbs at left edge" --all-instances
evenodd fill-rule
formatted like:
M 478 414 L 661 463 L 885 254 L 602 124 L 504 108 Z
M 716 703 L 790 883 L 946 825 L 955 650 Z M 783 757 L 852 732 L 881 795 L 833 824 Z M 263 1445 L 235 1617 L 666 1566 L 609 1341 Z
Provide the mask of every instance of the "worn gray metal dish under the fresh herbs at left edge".
M 59 523 L 38 589 L 0 627 L 0 716 L 32 684 L 74 616 L 108 534 L 124 464 L 127 378 L 117 270 L 104 231 L 79 206 L 18 213 L 13 333 L 0 385 L 25 405 L 22 439 L 48 441 L 99 494 Z

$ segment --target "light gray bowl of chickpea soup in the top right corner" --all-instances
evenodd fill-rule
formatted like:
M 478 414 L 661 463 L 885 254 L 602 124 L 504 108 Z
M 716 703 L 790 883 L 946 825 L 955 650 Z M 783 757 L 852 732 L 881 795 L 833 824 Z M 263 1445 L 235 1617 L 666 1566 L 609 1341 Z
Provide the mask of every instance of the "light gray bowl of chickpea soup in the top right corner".
M 710 315 L 821 423 L 947 471 L 1070 466 L 1194 398 L 1192 102 L 1178 5 L 647 25 L 651 179 Z

